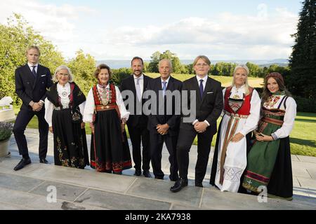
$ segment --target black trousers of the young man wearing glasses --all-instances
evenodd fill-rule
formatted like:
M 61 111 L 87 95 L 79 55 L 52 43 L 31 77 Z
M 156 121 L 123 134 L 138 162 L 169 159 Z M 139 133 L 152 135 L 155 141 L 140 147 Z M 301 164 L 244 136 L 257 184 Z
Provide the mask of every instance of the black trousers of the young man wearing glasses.
M 202 183 L 206 174 L 207 162 L 209 161 L 209 153 L 211 151 L 211 142 L 213 134 L 211 130 L 206 129 L 202 134 L 192 130 L 180 129 L 177 144 L 177 160 L 179 167 L 179 175 L 183 179 L 187 179 L 187 169 L 189 167 L 189 152 L 192 143 L 197 136 L 197 163 L 195 165 L 195 183 Z

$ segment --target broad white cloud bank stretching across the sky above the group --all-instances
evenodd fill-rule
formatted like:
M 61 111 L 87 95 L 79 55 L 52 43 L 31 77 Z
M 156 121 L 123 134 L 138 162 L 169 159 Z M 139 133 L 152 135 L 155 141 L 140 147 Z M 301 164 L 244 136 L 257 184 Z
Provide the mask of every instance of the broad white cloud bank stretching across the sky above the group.
M 13 12 L 22 14 L 67 58 L 79 49 L 96 59 L 131 59 L 135 55 L 149 59 L 157 50 L 171 50 L 181 59 L 201 54 L 212 59 L 289 57 L 294 45 L 290 35 L 296 32 L 298 15 L 286 8 L 268 10 L 265 4 L 257 9 L 258 15 L 224 12 L 207 18 L 188 16 L 165 25 L 126 21 L 117 26 L 113 18 L 97 17 L 102 15 L 98 8 L 11 0 L 0 1 L 0 22 L 6 23 Z

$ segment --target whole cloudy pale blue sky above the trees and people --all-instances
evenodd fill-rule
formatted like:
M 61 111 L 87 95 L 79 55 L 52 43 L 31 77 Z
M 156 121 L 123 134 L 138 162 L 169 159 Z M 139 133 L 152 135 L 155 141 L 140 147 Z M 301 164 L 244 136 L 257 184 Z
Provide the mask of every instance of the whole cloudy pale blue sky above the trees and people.
M 51 40 L 66 58 L 82 49 L 96 59 L 149 59 L 171 50 L 180 59 L 287 58 L 301 1 L 48 1 L 0 3 Z

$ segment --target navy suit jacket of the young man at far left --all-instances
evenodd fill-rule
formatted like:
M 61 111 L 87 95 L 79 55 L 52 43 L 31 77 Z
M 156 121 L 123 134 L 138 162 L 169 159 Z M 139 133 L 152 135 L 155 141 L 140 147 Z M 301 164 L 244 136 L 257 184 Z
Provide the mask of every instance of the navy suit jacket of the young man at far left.
M 52 84 L 51 71 L 45 66 L 39 64 L 36 79 L 27 64 L 15 69 L 15 93 L 22 99 L 21 109 L 32 111 L 29 102 L 45 101 L 46 90 Z

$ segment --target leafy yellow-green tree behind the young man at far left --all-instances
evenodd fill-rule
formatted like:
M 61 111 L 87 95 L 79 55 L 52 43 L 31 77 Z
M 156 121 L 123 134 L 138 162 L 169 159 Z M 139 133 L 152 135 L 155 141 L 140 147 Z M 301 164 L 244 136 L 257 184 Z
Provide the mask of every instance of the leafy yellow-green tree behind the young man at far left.
M 0 25 L 0 98 L 10 96 L 15 104 L 20 99 L 15 94 L 14 71 L 27 62 L 25 50 L 29 45 L 37 45 L 41 50 L 40 63 L 51 71 L 65 61 L 55 46 L 44 39 L 22 15 L 14 13 L 8 18 L 7 25 Z

